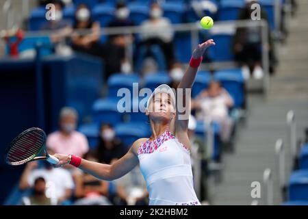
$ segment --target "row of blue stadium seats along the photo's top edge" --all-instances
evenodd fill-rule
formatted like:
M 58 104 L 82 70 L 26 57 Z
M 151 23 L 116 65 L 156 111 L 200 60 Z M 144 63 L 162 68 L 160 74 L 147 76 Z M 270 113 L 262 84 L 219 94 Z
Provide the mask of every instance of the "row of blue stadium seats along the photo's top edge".
M 73 23 L 75 10 L 79 3 L 85 1 L 75 1 L 74 5 L 70 5 L 64 8 L 64 18 L 71 20 Z M 92 19 L 99 21 L 101 27 L 105 27 L 114 18 L 115 3 L 116 1 L 106 1 L 105 3 L 99 3 L 95 1 L 86 1 L 92 10 Z M 213 14 L 209 10 L 205 10 L 205 14 L 212 16 L 214 21 L 229 21 L 237 20 L 238 13 L 241 8 L 244 7 L 244 0 L 222 0 L 216 3 L 218 12 Z M 274 29 L 274 0 L 259 0 L 259 3 L 264 7 L 268 14 L 271 29 Z M 283 1 L 281 1 L 283 3 Z M 194 12 L 191 6 L 184 1 L 166 1 L 162 3 L 164 10 L 164 16 L 170 19 L 172 23 L 185 23 L 188 21 L 198 21 L 199 17 Z M 127 4 L 130 10 L 130 18 L 140 25 L 142 21 L 149 18 L 149 4 L 144 1 L 133 1 Z M 29 17 L 29 30 L 34 31 L 40 29 L 43 23 L 47 22 L 45 19 L 46 9 L 44 7 L 38 7 L 31 11 Z

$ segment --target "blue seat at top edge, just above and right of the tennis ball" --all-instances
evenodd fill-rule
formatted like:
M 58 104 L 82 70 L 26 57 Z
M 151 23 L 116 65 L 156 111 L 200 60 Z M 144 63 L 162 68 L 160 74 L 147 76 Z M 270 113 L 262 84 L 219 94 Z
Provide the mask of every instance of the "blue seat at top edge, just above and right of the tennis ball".
M 243 7 L 243 0 L 221 0 L 218 9 L 218 21 L 237 20 Z

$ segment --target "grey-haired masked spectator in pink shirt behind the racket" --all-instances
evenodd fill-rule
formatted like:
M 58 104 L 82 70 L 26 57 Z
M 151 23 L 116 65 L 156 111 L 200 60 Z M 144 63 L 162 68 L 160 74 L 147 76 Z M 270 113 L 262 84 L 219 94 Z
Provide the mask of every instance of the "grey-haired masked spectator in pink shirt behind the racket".
M 88 152 L 88 140 L 83 133 L 75 131 L 78 114 L 71 107 L 63 107 L 60 112 L 60 130 L 47 136 L 47 148 L 55 153 L 75 154 L 84 157 Z

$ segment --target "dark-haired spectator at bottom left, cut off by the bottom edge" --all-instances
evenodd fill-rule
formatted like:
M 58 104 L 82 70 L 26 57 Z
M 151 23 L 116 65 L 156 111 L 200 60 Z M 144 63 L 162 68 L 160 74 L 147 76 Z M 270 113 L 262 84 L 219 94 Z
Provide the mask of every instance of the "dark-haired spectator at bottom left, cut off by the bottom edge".
M 33 192 L 31 195 L 23 197 L 22 205 L 52 205 L 51 198 L 47 198 L 45 190 L 45 179 L 43 177 L 36 178 Z

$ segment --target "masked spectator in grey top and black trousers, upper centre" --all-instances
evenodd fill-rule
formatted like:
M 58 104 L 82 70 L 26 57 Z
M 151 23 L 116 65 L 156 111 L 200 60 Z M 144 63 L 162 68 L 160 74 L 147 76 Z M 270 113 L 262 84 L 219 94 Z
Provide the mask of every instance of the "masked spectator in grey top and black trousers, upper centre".
M 145 47 L 151 53 L 153 45 L 159 46 L 164 53 L 164 60 L 169 68 L 170 62 L 174 60 L 172 40 L 174 32 L 168 18 L 163 17 L 163 11 L 159 3 L 152 3 L 150 10 L 150 18 L 141 24 L 141 40 L 140 47 Z

